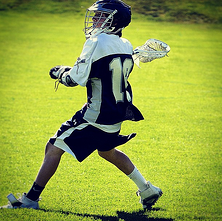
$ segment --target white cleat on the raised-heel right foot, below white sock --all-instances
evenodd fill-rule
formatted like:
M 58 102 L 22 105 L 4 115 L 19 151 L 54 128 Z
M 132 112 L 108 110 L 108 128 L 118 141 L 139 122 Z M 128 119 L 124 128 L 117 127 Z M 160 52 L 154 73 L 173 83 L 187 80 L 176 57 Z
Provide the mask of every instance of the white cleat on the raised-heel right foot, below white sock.
M 140 196 L 140 203 L 143 209 L 151 209 L 156 201 L 162 196 L 163 192 L 160 188 L 153 186 L 149 181 L 147 182 L 147 189 L 137 191 L 137 196 Z

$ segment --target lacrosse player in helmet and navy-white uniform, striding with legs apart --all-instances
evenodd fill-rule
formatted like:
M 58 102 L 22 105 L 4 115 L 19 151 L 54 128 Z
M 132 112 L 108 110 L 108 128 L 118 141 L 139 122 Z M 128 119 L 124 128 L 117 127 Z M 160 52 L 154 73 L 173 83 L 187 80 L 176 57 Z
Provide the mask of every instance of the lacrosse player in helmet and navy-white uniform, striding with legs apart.
M 131 160 L 117 146 L 135 137 L 135 133 L 120 135 L 125 120 L 143 120 L 132 103 L 128 77 L 133 69 L 133 47 L 122 38 L 122 30 L 131 22 L 130 6 L 120 0 L 101 0 L 87 9 L 85 15 L 86 42 L 73 67 L 56 66 L 50 76 L 67 87 L 86 87 L 88 102 L 63 123 L 49 139 L 45 158 L 29 192 L 20 199 L 8 195 L 3 208 L 39 208 L 39 196 L 55 173 L 64 152 L 82 162 L 95 150 L 100 157 L 115 165 L 139 188 L 137 194 L 144 209 L 162 195 L 141 175 Z

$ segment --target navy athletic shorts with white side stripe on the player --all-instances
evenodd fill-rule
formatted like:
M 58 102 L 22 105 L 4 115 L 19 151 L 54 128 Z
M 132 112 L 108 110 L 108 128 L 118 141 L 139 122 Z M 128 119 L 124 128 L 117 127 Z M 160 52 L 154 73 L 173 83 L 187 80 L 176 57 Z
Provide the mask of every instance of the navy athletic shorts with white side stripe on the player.
M 116 133 L 102 131 L 85 121 L 79 111 L 70 120 L 62 124 L 49 142 L 82 162 L 96 149 L 109 151 L 126 143 L 135 135 L 123 136 L 119 134 L 119 131 Z

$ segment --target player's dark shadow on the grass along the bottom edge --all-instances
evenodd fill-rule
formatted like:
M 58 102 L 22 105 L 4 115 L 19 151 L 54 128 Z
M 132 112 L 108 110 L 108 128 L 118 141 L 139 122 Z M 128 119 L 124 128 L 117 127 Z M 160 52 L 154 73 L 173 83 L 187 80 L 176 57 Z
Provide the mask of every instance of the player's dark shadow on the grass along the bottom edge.
M 117 216 L 105 216 L 105 215 L 96 215 L 96 214 L 89 214 L 89 213 L 74 213 L 74 212 L 68 212 L 68 211 L 63 211 L 63 210 L 51 210 L 51 209 L 40 209 L 41 211 L 44 212 L 53 212 L 53 213 L 60 213 L 64 215 L 74 215 L 74 216 L 79 216 L 79 217 L 89 217 L 93 218 L 95 220 L 99 219 L 102 221 L 119 221 L 124 220 L 124 221 L 173 221 L 173 219 L 166 219 L 166 218 L 152 218 L 149 217 L 148 213 L 149 211 L 144 211 L 144 210 L 139 210 L 137 212 L 124 212 L 124 211 L 117 211 Z M 162 210 L 160 208 L 153 208 L 150 211 L 158 211 Z

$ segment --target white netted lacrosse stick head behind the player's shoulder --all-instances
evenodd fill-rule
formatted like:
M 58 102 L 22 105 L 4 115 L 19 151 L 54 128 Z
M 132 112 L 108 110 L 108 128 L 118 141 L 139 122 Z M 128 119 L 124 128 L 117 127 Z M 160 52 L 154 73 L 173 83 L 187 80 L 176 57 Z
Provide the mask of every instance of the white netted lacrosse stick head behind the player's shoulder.
M 147 63 L 154 59 L 165 57 L 169 51 L 170 46 L 166 43 L 156 39 L 149 39 L 144 45 L 138 46 L 133 50 L 133 60 L 140 67 L 140 62 Z

